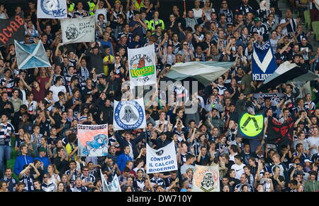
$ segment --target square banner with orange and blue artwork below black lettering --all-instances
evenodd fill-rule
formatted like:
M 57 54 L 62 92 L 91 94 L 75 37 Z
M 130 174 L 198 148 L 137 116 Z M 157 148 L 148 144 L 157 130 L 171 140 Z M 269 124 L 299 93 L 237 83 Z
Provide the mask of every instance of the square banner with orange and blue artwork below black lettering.
M 108 155 L 108 124 L 77 125 L 79 156 Z

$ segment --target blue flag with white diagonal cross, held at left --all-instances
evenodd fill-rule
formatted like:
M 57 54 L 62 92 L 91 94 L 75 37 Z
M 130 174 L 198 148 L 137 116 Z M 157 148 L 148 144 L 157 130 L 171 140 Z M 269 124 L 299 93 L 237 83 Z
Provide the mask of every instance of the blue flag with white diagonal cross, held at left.
M 21 44 L 14 40 L 14 45 L 19 69 L 51 66 L 42 41 L 39 40 L 36 44 Z

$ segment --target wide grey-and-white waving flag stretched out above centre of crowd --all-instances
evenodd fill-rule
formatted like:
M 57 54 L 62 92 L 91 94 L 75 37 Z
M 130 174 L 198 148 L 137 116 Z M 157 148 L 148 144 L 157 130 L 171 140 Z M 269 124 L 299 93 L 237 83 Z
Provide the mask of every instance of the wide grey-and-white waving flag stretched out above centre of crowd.
M 225 74 L 233 62 L 189 62 L 173 65 L 167 77 L 173 80 L 184 80 L 187 77 L 193 77 L 208 86 L 221 75 Z

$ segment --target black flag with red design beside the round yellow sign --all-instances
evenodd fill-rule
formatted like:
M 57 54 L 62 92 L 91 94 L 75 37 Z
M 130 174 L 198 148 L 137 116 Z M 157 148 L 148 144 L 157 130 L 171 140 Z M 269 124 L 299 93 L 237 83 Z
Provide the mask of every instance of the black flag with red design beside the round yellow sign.
M 274 117 L 268 117 L 267 126 L 267 143 L 286 145 L 293 141 L 293 118 L 289 117 L 284 124 L 274 119 Z

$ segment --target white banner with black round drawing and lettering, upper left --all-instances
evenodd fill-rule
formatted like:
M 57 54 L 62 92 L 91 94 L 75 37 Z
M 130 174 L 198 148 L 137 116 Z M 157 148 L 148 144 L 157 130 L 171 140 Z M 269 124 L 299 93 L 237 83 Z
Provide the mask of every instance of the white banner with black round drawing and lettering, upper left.
M 94 16 L 61 19 L 63 44 L 94 42 Z

